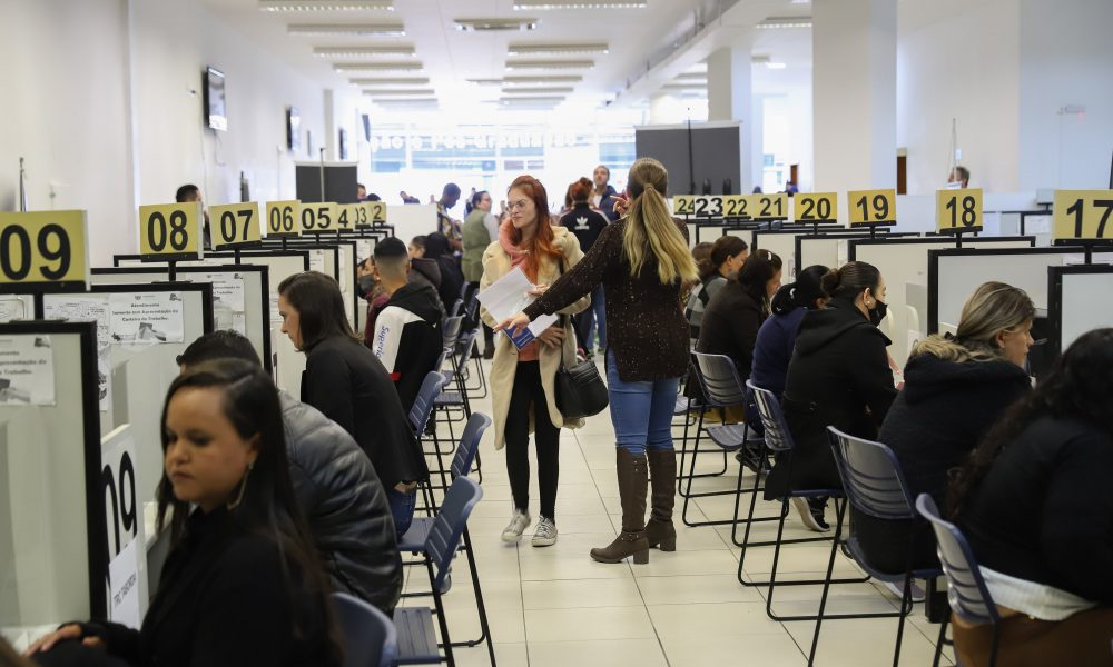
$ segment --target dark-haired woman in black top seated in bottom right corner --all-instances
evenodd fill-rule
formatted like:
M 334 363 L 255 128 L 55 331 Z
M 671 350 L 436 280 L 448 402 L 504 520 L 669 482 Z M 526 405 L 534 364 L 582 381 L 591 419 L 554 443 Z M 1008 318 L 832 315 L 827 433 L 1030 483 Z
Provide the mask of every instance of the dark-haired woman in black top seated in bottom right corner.
M 997 665 L 1113 665 L 1113 329 L 1082 335 L 952 480 L 948 514 L 1002 615 Z M 993 629 L 953 618 L 963 665 Z

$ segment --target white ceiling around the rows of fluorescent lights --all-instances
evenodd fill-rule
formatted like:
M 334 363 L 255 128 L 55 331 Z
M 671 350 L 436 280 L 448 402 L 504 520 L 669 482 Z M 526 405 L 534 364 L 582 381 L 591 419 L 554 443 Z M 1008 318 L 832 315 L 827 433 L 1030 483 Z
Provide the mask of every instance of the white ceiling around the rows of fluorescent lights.
M 581 81 L 553 82 L 545 87 L 572 87 L 571 93 L 558 92 L 567 98 L 565 108 L 585 106 L 597 108 L 613 99 L 627 88 L 628 81 L 638 79 L 650 69 L 651 58 L 660 58 L 670 49 L 682 49 L 693 32 L 698 11 L 715 6 L 730 6 L 730 0 L 646 0 L 644 9 L 560 9 L 543 11 L 515 11 L 513 0 L 394 0 L 393 11 L 297 11 L 269 12 L 259 9 L 258 0 L 204 0 L 205 3 L 237 30 L 244 32 L 262 48 L 270 51 L 295 70 L 324 86 L 353 86 L 353 78 L 427 78 L 427 84 L 394 86 L 391 89 L 433 89 L 442 109 L 481 107 L 501 108 L 498 100 L 509 97 L 500 86 L 477 86 L 467 79 L 502 79 L 506 76 L 582 76 Z M 560 0 L 554 0 L 559 2 Z M 590 1 L 590 0 L 585 0 Z M 748 0 L 740 0 L 748 2 Z M 764 4 L 769 3 L 766 0 Z M 707 7 L 705 7 L 707 6 Z M 809 4 L 790 0 L 776 0 L 775 14 L 800 16 L 810 11 Z M 762 11 L 765 11 L 762 9 Z M 459 18 L 510 18 L 538 20 L 530 31 L 464 32 L 456 29 Z M 287 33 L 288 23 L 402 23 L 404 37 L 294 37 Z M 755 31 L 754 53 L 769 56 L 785 62 L 787 70 L 755 71 L 755 92 L 777 92 L 778 80 L 798 80 L 778 74 L 811 67 L 811 31 L 758 30 Z M 583 43 L 605 42 L 608 53 L 568 56 L 523 56 L 511 58 L 528 60 L 594 60 L 590 69 L 561 71 L 508 71 L 508 44 L 519 43 Z M 358 61 L 417 60 L 424 71 L 417 72 L 345 72 L 332 69 L 329 59 L 313 54 L 314 47 L 355 46 L 413 46 L 415 58 L 373 57 Z M 335 62 L 354 62 L 337 59 Z M 355 88 L 353 88 L 355 89 Z M 526 93 L 522 93 L 526 94 Z M 483 102 L 486 100 L 486 102 Z

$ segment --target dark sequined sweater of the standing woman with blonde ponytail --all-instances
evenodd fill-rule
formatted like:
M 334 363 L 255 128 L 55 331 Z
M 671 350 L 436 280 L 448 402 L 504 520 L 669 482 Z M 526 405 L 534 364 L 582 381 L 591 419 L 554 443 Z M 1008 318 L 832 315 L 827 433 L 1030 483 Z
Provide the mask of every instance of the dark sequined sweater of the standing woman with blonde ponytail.
M 647 253 L 637 277 L 622 251 L 627 219 L 608 225 L 583 259 L 525 308 L 535 319 L 568 307 L 602 283 L 607 300 L 607 349 L 627 382 L 680 377 L 688 369 L 689 336 L 680 281 L 661 285 L 657 259 Z M 677 221 L 688 238 L 688 228 Z

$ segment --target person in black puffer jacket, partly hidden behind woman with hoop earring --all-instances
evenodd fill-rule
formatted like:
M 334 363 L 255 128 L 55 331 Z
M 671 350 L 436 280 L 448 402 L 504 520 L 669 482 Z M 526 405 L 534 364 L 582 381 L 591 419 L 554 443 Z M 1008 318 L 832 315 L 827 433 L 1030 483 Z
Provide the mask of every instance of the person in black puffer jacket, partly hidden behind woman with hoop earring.
M 186 367 L 235 358 L 260 365 L 250 341 L 214 331 L 178 357 Z M 394 519 L 375 467 L 352 436 L 312 406 L 278 390 L 290 480 L 325 573 L 336 590 L 393 614 L 402 594 Z

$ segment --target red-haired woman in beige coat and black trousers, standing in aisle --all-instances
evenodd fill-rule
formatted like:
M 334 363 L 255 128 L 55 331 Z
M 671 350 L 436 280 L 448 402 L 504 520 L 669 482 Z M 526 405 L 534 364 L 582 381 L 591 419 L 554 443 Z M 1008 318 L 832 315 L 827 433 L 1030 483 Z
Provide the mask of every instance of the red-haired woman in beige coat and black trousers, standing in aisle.
M 575 236 L 554 227 L 549 217 L 544 187 L 531 176 L 520 176 L 510 187 L 510 219 L 499 229 L 499 239 L 483 253 L 480 289 L 522 269 L 536 286 L 530 293 L 540 296 L 565 270 L 583 257 Z M 514 497 L 514 514 L 502 532 L 506 542 L 516 542 L 529 527 L 530 518 L 530 432 L 538 448 L 538 482 L 541 490 L 541 516 L 533 536 L 534 547 L 556 541 L 556 481 L 560 475 L 560 429 L 577 428 L 582 420 L 565 421 L 556 409 L 554 385 L 563 357 L 567 366 L 575 364 L 575 338 L 571 318 L 584 310 L 590 298 L 583 297 L 560 311 L 562 316 L 536 340 L 518 349 L 506 336 L 499 336 L 491 367 L 491 398 L 494 411 L 495 449 L 506 447 L 506 472 Z M 483 321 L 498 322 L 486 309 Z

